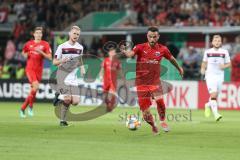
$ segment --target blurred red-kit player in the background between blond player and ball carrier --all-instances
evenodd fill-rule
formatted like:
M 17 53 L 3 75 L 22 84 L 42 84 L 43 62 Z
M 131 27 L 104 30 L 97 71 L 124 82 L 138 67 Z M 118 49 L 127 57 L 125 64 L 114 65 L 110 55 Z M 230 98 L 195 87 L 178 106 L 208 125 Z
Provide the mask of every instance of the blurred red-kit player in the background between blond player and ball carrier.
M 103 79 L 103 93 L 105 94 L 104 100 L 107 110 L 112 111 L 116 102 L 117 76 L 120 74 L 123 77 L 123 74 L 121 72 L 121 62 L 116 56 L 116 49 L 110 48 L 108 55 L 109 57 L 102 62 L 100 76 Z

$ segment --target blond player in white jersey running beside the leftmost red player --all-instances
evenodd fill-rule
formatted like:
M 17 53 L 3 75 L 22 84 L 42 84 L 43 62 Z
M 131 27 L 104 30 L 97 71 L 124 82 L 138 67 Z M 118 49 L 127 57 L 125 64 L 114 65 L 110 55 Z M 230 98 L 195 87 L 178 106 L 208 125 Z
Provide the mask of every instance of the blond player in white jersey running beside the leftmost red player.
M 77 59 L 77 57 L 80 57 L 80 60 L 82 62 L 81 59 L 81 55 L 83 53 L 83 46 L 81 44 L 78 43 L 78 39 L 80 37 L 80 28 L 78 26 L 72 26 L 70 32 L 69 32 L 69 40 L 61 45 L 58 46 L 57 51 L 55 53 L 54 59 L 53 59 L 53 64 L 60 67 L 63 67 L 67 62 L 71 62 Z M 75 64 L 75 63 L 70 63 L 70 67 L 71 64 Z M 76 78 L 76 72 L 77 69 L 75 67 L 75 69 L 73 69 L 71 71 L 71 73 L 67 73 L 67 77 L 63 76 L 63 75 L 59 75 L 58 73 L 60 73 L 60 70 L 58 70 L 59 72 L 57 72 L 57 76 L 62 76 L 64 79 L 60 78 L 60 81 L 64 81 L 61 83 L 64 83 L 65 85 L 74 85 L 71 84 L 71 81 L 74 81 L 74 79 Z M 85 69 L 84 66 L 81 65 L 80 66 L 81 69 L 81 74 L 84 75 L 85 74 Z M 59 85 L 59 79 L 57 79 L 57 83 Z M 66 84 L 67 82 L 70 82 L 68 84 Z M 65 86 L 64 85 L 64 86 Z M 61 87 L 61 86 L 60 86 Z M 60 103 L 58 102 L 58 99 L 60 99 Z M 71 93 L 67 92 L 67 93 L 57 93 L 56 94 L 56 99 L 55 99 L 55 105 L 59 104 L 60 105 L 60 126 L 68 126 L 68 123 L 66 121 L 66 115 L 67 115 L 67 111 L 69 109 L 69 106 L 71 104 L 73 105 L 77 105 L 79 103 L 80 99 L 78 95 L 72 95 Z

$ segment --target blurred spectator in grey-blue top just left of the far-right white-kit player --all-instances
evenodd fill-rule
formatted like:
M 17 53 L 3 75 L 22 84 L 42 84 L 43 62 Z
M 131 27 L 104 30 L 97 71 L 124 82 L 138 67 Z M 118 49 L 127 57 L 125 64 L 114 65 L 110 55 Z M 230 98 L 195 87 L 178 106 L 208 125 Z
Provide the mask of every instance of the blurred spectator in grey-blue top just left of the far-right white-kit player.
M 200 54 L 194 49 L 194 47 L 189 46 L 186 53 L 181 53 L 179 58 L 183 61 L 182 67 L 184 70 L 185 79 L 198 79 L 200 74 Z

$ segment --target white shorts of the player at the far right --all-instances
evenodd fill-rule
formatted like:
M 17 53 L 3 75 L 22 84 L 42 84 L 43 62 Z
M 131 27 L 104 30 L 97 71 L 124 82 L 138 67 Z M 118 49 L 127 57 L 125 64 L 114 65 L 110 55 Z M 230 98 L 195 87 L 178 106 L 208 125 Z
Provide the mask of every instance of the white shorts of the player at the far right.
M 209 75 L 206 76 L 206 83 L 208 92 L 211 94 L 213 92 L 220 92 L 224 78 L 222 75 Z

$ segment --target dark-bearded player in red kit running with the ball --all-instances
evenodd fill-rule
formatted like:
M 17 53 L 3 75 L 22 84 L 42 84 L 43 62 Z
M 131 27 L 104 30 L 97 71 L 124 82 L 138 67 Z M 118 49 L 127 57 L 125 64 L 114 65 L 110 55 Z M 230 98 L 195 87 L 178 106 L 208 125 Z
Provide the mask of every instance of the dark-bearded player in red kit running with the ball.
M 127 57 L 137 56 L 136 65 L 136 88 L 138 104 L 143 114 L 144 120 L 152 127 L 154 134 L 158 134 L 158 127 L 154 123 L 154 118 L 150 112 L 151 100 L 157 104 L 157 111 L 160 125 L 165 132 L 169 127 L 165 122 L 165 104 L 162 97 L 162 86 L 160 82 L 160 61 L 164 57 L 169 60 L 183 76 L 183 69 L 172 56 L 168 48 L 158 43 L 160 35 L 157 27 L 149 27 L 147 32 L 148 42 L 136 45 L 133 50 L 127 50 L 126 46 L 120 46 L 121 51 Z

